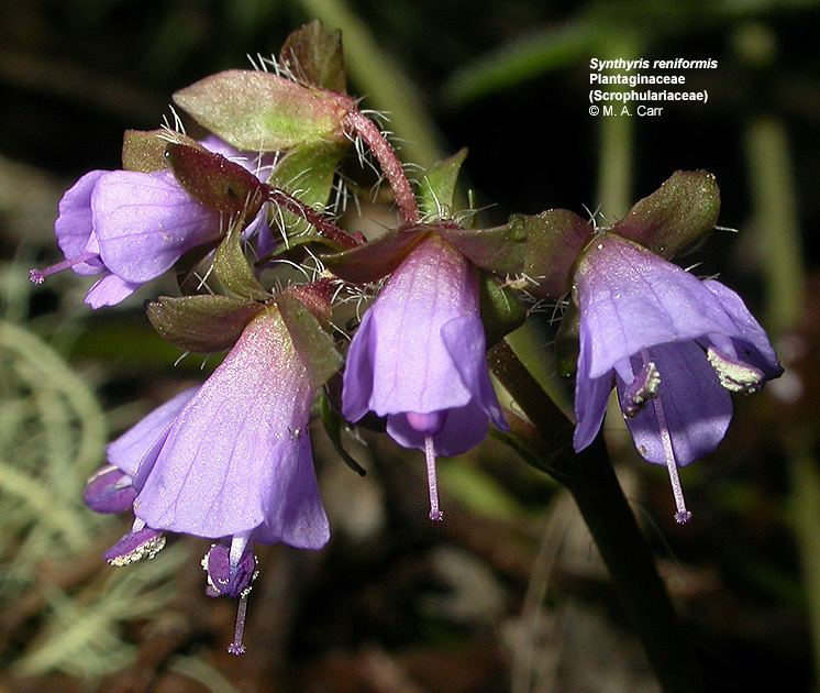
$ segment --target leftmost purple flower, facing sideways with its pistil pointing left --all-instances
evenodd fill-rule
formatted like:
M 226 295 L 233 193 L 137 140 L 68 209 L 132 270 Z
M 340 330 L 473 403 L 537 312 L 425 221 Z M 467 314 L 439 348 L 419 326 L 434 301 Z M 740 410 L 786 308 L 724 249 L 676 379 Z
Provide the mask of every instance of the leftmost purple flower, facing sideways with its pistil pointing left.
M 210 136 L 202 144 L 257 172 L 254 160 L 221 140 Z M 170 170 L 91 170 L 59 201 L 54 231 L 65 260 L 32 270 L 30 277 L 41 284 L 68 268 L 102 275 L 86 302 L 91 308 L 112 306 L 169 270 L 185 252 L 219 240 L 221 221 L 219 212 L 195 200 Z M 254 224 L 264 226 L 264 213 Z

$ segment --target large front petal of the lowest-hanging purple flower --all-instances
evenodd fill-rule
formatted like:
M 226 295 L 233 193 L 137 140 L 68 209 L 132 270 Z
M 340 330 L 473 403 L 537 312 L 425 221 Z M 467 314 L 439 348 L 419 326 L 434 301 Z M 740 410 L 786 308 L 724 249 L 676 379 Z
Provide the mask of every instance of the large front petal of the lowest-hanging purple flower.
M 273 513 L 273 530 L 280 529 L 276 513 L 289 503 L 282 492 L 313 493 L 300 448 L 312 394 L 281 316 L 266 310 L 177 415 L 135 515 L 151 527 L 215 538 L 252 531 Z

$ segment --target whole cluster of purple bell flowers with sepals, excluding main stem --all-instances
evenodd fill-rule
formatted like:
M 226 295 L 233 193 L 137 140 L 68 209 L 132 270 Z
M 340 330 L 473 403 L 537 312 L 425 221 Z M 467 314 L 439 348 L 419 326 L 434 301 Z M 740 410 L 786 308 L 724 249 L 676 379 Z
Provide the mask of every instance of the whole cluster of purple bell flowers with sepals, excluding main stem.
M 67 268 L 101 275 L 86 298 L 92 308 L 169 270 L 199 277 L 193 287 L 180 282 L 181 296 L 149 301 L 148 318 L 185 351 L 228 355 L 204 383 L 108 447 L 85 501 L 99 513 L 133 513 L 130 531 L 106 553 L 112 565 L 154 558 L 165 532 L 213 541 L 202 559 L 207 592 L 240 600 L 234 653 L 244 651 L 254 544 L 319 549 L 330 538 L 309 425 L 314 395 L 344 361 L 331 320 L 344 283 L 376 298 L 350 343 L 329 416 L 339 430 L 341 416 L 364 425 L 372 413 L 398 444 L 423 451 L 432 520 L 443 519 L 436 457 L 467 452 L 490 424 L 509 430 L 486 352 L 524 312 L 500 277 L 524 278 L 536 298 L 572 287 L 575 449 L 598 435 L 617 387 L 639 452 L 668 469 L 679 522 L 690 514 L 677 468 L 717 448 L 731 393 L 780 374 L 738 295 L 668 261 L 716 224 L 709 174 L 678 172 L 608 229 L 566 210 L 465 229 L 448 213 L 464 153 L 413 191 L 389 143 L 343 94 L 337 38 L 315 25 L 300 32 L 287 45 L 304 59 L 286 61 L 301 66 L 298 75 L 233 70 L 176 95 L 214 135 L 198 143 L 131 133 L 122 170 L 82 176 L 59 202 L 65 258 L 31 272 L 34 283 Z M 339 228 L 324 207 L 353 141 L 378 160 L 402 220 L 370 242 Z M 323 262 L 307 283 L 276 275 L 314 252 Z

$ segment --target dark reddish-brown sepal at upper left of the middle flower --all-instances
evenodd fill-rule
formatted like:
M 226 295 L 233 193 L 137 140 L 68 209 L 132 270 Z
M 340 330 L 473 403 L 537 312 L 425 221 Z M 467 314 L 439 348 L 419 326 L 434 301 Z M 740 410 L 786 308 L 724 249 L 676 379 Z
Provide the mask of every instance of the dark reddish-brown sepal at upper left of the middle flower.
M 322 263 L 345 282 L 368 284 L 390 274 L 410 250 L 439 227 L 410 227 L 388 231 L 379 238 L 341 253 L 321 256 Z

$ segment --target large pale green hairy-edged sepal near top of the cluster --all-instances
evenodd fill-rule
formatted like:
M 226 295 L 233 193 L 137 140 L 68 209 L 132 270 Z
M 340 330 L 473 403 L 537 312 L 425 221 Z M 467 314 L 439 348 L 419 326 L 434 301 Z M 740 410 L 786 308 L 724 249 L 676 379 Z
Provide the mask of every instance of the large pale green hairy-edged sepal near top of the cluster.
M 187 87 L 174 101 L 240 150 L 273 152 L 344 140 L 353 99 L 270 73 L 228 70 Z

